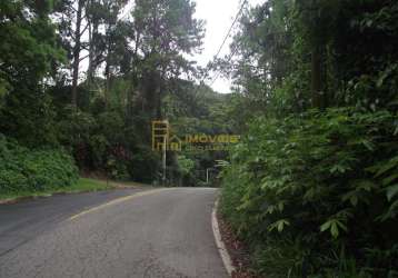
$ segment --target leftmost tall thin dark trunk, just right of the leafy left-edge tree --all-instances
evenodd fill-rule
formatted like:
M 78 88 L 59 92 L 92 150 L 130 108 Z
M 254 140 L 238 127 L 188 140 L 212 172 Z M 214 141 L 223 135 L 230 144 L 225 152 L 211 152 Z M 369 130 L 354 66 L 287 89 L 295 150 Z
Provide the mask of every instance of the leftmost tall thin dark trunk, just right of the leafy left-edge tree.
M 79 82 L 79 64 L 80 64 L 80 29 L 82 21 L 83 0 L 78 1 L 78 10 L 76 14 L 76 29 L 74 29 L 74 47 L 73 47 L 73 66 L 72 66 L 72 106 L 78 107 L 78 82 Z

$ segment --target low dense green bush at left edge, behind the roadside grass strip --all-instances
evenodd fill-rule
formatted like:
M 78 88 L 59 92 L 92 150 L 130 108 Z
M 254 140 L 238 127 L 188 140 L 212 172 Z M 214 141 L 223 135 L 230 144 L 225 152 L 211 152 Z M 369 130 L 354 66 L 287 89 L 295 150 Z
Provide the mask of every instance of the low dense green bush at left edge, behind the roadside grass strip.
M 61 150 L 30 150 L 0 135 L 0 193 L 44 191 L 78 181 L 73 159 Z

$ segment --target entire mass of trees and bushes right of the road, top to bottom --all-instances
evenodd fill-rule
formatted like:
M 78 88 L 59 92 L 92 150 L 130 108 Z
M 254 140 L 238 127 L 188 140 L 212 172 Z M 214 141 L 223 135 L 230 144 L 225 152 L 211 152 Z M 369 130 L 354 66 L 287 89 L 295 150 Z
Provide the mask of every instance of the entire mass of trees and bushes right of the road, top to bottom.
M 242 17 L 239 56 L 220 64 L 249 123 L 221 212 L 265 277 L 398 277 L 397 19 L 389 0 L 273 0 Z

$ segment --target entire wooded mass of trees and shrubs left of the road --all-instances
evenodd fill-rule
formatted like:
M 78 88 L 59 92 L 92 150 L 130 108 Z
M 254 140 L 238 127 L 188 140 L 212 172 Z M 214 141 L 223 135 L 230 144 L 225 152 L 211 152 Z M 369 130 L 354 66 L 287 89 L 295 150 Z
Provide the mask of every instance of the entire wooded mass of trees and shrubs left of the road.
M 18 156 L 2 149 L 0 190 L 71 185 L 76 173 L 47 172 L 74 163 L 81 173 L 159 182 L 152 120 L 221 132 L 225 97 L 193 82 L 201 69 L 189 57 L 203 36 L 193 13 L 189 0 L 1 1 L 0 133 Z M 218 156 L 169 153 L 168 182 L 203 181 Z M 24 163 L 40 169 L 38 180 Z

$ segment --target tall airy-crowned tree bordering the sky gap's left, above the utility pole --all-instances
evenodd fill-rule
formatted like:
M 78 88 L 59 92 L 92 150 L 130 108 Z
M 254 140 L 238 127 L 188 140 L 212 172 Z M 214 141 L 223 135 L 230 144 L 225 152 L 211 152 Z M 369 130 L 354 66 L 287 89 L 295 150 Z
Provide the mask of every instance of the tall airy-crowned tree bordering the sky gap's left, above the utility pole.
M 203 22 L 193 18 L 190 0 L 136 0 L 135 4 L 133 81 L 141 108 L 151 118 L 160 118 L 168 81 L 193 71 L 185 54 L 199 51 Z

